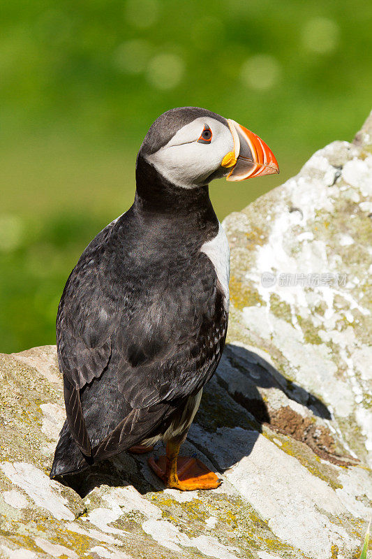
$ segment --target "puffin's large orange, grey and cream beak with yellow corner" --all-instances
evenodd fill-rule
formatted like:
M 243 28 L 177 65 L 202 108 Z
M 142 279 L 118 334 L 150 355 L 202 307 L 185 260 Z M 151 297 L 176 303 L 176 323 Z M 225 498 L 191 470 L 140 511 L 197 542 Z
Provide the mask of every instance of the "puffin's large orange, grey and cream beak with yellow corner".
M 246 180 L 279 173 L 275 155 L 257 134 L 230 118 L 228 124 L 234 139 L 234 151 L 226 154 L 221 161 L 221 166 L 232 167 L 226 180 Z

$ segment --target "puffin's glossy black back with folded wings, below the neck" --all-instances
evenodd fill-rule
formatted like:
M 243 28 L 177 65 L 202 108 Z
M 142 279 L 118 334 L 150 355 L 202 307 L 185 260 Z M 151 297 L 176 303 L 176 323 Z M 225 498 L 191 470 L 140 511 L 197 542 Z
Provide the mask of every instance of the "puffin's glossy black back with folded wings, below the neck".
M 187 270 L 172 263 L 164 274 L 128 257 L 124 270 L 107 254 L 115 242 L 108 229 L 70 275 L 57 317 L 68 424 L 80 450 L 99 458 L 142 440 L 174 402 L 202 388 L 216 370 L 228 322 L 205 254 L 195 254 Z M 80 391 L 111 365 L 131 411 L 91 449 Z

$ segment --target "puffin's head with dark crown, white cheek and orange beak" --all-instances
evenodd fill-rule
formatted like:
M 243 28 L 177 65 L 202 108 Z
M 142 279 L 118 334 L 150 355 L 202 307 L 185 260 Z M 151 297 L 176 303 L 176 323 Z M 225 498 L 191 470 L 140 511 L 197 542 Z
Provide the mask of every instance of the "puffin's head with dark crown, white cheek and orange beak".
M 269 147 L 253 132 L 198 107 L 168 110 L 151 125 L 137 157 L 176 187 L 195 189 L 214 178 L 244 180 L 278 172 Z

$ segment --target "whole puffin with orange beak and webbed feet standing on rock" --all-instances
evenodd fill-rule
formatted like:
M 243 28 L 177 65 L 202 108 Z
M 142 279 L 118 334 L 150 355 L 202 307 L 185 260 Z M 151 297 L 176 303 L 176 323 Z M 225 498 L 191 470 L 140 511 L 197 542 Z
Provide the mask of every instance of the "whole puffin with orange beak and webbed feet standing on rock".
M 149 466 L 165 486 L 221 484 L 179 456 L 228 328 L 230 251 L 209 183 L 278 170 L 255 133 L 210 110 L 174 108 L 151 125 L 133 205 L 90 242 L 61 296 L 66 421 L 50 477 L 163 440 L 165 455 Z

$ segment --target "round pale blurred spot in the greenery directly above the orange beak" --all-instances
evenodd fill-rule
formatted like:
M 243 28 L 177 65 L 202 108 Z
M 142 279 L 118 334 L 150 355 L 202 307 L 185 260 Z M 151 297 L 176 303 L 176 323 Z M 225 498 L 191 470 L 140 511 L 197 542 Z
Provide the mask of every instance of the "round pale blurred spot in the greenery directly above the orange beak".
M 281 66 L 271 55 L 255 55 L 241 67 L 241 80 L 251 89 L 265 91 L 278 82 Z

